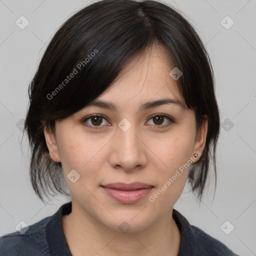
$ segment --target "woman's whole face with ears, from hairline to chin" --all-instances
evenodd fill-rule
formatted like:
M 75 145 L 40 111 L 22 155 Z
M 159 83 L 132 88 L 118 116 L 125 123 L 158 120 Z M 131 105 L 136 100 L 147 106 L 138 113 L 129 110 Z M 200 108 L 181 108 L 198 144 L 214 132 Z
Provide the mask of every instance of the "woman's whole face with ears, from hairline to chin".
M 207 121 L 196 133 L 194 111 L 186 108 L 165 56 L 155 45 L 126 64 L 96 98 L 115 108 L 86 106 L 56 121 L 55 134 L 44 129 L 72 203 L 114 230 L 123 221 L 142 230 L 166 216 L 183 190 L 189 164 L 199 159 L 194 153 L 200 156 L 204 147 Z M 169 103 L 143 105 L 166 98 Z

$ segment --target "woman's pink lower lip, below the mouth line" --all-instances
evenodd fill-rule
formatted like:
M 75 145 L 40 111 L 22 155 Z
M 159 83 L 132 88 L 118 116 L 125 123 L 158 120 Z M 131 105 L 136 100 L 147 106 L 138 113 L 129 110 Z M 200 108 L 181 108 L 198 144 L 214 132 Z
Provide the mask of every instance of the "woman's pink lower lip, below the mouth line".
M 147 193 L 151 191 L 153 187 L 141 188 L 136 190 L 119 190 L 108 187 L 102 187 L 105 192 L 115 200 L 122 203 L 134 203 L 139 201 Z

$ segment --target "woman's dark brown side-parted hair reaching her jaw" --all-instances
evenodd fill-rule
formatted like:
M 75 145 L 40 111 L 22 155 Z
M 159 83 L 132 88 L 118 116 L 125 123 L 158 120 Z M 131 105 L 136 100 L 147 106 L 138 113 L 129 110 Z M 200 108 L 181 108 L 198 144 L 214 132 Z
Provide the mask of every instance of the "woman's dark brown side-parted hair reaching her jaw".
M 30 178 L 41 200 L 51 192 L 69 194 L 61 163 L 49 156 L 44 125 L 54 131 L 55 120 L 98 97 L 131 57 L 154 42 L 169 53 L 170 66 L 182 72 L 177 86 L 187 107 L 195 111 L 198 130 L 203 116 L 208 117 L 204 150 L 188 173 L 192 191 L 201 198 L 211 159 L 216 185 L 219 112 L 210 60 L 194 28 L 174 8 L 158 1 L 101 0 L 60 26 L 29 84 L 24 131 L 31 148 Z M 71 73 L 75 74 L 72 78 Z

